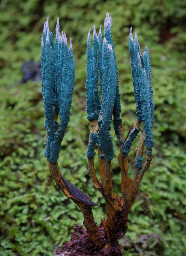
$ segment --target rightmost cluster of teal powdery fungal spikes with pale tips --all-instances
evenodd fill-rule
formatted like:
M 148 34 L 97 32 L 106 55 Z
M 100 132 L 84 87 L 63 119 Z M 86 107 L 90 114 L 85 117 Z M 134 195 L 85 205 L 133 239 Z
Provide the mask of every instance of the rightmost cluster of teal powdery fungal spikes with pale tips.
M 133 87 L 137 108 L 137 119 L 143 121 L 146 138 L 146 147 L 151 150 L 154 146 L 152 136 L 152 124 L 154 122 L 154 101 L 152 89 L 152 71 L 150 64 L 150 53 L 146 47 L 143 57 L 140 53 L 140 45 L 135 33 L 135 41 L 132 38 L 132 28 L 129 33 L 129 52 L 131 54 L 131 68 Z

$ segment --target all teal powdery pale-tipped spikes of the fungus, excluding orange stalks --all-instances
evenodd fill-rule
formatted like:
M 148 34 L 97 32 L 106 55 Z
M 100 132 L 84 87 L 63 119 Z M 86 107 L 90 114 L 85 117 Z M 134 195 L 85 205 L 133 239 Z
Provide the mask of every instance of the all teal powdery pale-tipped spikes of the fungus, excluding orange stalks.
M 113 143 L 110 135 L 111 121 L 120 145 L 121 131 L 120 118 L 120 93 L 118 68 L 112 40 L 112 19 L 106 14 L 104 22 L 104 37 L 102 40 L 101 26 L 99 34 L 96 28 L 93 30 L 93 48 L 91 49 L 90 30 L 87 41 L 87 75 L 86 94 L 88 120 L 98 120 L 98 134 L 90 134 L 87 157 L 93 157 L 96 143 L 111 161 L 113 158 Z M 140 45 L 135 34 L 132 38 L 132 29 L 129 34 L 129 52 L 131 54 L 131 67 L 133 87 L 137 108 L 137 119 L 143 121 L 146 138 L 145 145 L 151 150 L 154 141 L 152 136 L 152 124 L 154 121 L 154 102 L 152 90 L 152 71 L 150 65 L 150 53 L 146 47 L 143 57 L 140 53 Z M 49 31 L 49 20 L 44 23 L 41 51 L 41 74 L 43 106 L 45 109 L 45 128 L 47 131 L 46 157 L 50 162 L 57 161 L 61 142 L 63 140 L 67 124 L 70 120 L 71 98 L 74 87 L 74 54 L 71 45 L 67 47 L 66 34 L 59 30 L 59 19 L 56 25 L 55 45 L 53 46 L 53 35 Z M 100 74 L 100 95 L 98 93 L 98 70 Z M 57 116 L 60 115 L 60 123 Z M 131 145 L 139 128 L 133 129 L 123 144 L 123 157 L 131 150 Z M 101 154 L 102 155 L 102 154 Z M 136 162 L 137 164 L 137 162 Z

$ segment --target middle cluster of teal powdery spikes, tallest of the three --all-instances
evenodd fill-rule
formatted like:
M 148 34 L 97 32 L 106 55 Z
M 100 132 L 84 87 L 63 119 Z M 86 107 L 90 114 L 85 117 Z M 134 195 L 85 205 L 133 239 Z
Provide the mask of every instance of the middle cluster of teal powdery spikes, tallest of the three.
M 104 156 L 111 161 L 113 158 L 113 144 L 110 135 L 110 125 L 113 116 L 113 123 L 117 138 L 120 138 L 120 93 L 118 81 L 118 68 L 112 41 L 112 19 L 106 14 L 104 22 L 104 38 L 102 40 L 101 26 L 99 34 L 96 28 L 93 30 L 93 49 L 91 49 L 90 30 L 87 41 L 87 66 L 86 66 L 86 97 L 88 120 L 98 119 L 99 131 L 90 134 L 90 142 L 87 157 L 95 154 L 94 147 L 98 147 Z M 98 69 L 100 74 L 101 103 L 98 93 Z M 100 157 L 103 157 L 101 154 Z

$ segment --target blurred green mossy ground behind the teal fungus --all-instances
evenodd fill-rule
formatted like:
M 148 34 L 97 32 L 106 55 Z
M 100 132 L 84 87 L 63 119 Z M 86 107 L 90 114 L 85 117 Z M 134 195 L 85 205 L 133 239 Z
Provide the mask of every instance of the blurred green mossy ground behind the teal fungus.
M 154 158 L 129 214 L 127 236 L 137 241 L 140 234 L 155 233 L 165 246 L 158 255 L 186 255 L 186 1 L 1 0 L 0 256 L 53 255 L 54 248 L 70 239 L 74 223 L 83 221 L 81 212 L 49 174 L 40 82 L 15 84 L 22 78 L 23 61 L 40 62 L 47 16 L 53 33 L 59 16 L 68 42 L 72 37 L 76 62 L 71 118 L 59 167 L 68 180 L 98 202 L 93 210 L 96 221 L 104 217 L 104 200 L 93 189 L 86 159 L 85 79 L 87 33 L 93 25 L 98 31 L 107 11 L 112 16 L 125 135 L 135 120 L 129 27 L 137 31 L 142 52 L 145 46 L 150 48 L 152 63 Z M 113 140 L 113 181 L 120 193 L 119 148 L 114 135 Z M 129 156 L 131 172 L 134 155 L 135 146 Z M 132 249 L 126 255 L 134 255 Z

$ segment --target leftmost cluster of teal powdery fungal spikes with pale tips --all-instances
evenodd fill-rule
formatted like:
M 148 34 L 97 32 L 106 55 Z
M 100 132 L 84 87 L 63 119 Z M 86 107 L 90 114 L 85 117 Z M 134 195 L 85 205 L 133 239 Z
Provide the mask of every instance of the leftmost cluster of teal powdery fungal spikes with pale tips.
M 53 34 L 49 31 L 49 19 L 44 23 L 41 50 L 41 75 L 43 106 L 45 109 L 45 129 L 47 131 L 45 155 L 51 163 L 59 157 L 61 142 L 70 120 L 71 99 L 73 95 L 75 63 L 71 44 L 59 31 L 59 18 Z M 57 119 L 60 115 L 60 123 Z

